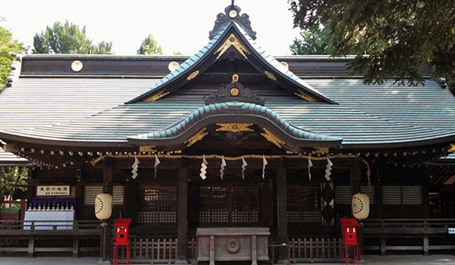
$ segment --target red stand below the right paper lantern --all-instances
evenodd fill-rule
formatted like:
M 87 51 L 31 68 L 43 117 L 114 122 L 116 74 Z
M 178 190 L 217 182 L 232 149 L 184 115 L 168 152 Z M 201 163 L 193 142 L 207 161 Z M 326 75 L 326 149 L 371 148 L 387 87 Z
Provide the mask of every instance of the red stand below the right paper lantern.
M 357 231 L 358 231 L 358 222 L 356 219 L 342 219 L 342 229 L 343 229 L 343 264 L 357 264 L 358 265 L 358 242 L 357 242 Z M 348 259 L 347 246 L 353 246 L 353 257 Z

